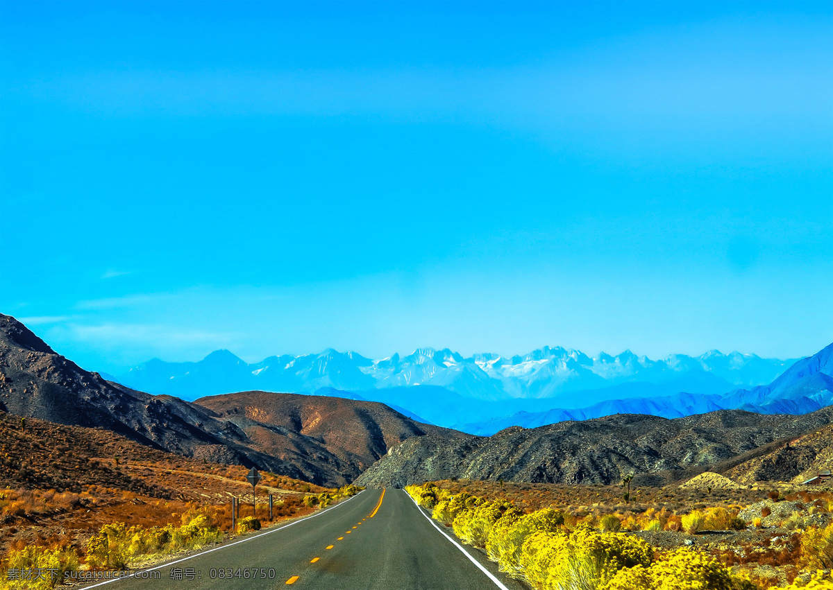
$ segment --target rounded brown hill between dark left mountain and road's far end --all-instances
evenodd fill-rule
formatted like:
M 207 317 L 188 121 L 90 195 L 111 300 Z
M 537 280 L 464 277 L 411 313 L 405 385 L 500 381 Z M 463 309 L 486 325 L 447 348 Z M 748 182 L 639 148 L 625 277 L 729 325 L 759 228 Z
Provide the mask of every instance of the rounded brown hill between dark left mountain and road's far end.
M 194 403 L 241 429 L 252 449 L 296 464 L 310 476 L 324 464 L 347 481 L 406 439 L 450 432 L 385 404 L 354 399 L 246 391 Z

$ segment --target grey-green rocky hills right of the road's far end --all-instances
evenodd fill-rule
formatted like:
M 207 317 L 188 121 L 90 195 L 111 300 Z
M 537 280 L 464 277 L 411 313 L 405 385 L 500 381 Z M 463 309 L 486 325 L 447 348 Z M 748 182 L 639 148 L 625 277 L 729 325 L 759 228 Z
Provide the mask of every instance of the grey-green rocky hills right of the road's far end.
M 363 486 L 403 486 L 447 478 L 541 483 L 616 483 L 629 473 L 683 471 L 717 464 L 779 439 L 831 424 L 833 408 L 813 414 L 742 410 L 664 419 L 619 414 L 491 437 L 408 439 L 358 478 Z

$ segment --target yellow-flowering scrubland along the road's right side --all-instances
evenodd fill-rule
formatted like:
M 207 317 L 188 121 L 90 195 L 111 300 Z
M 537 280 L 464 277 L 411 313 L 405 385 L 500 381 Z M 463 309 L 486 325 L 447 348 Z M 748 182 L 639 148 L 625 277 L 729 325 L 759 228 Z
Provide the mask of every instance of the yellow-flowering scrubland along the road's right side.
M 709 506 L 621 503 L 613 490 L 565 488 L 446 480 L 406 489 L 461 541 L 536 590 L 833 588 L 829 490 L 747 490 L 748 503 Z M 602 495 L 610 501 L 576 504 Z M 663 495 L 654 489 L 643 500 Z M 761 528 L 764 519 L 770 528 Z

